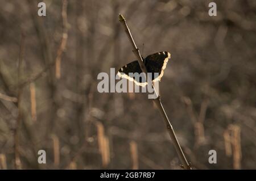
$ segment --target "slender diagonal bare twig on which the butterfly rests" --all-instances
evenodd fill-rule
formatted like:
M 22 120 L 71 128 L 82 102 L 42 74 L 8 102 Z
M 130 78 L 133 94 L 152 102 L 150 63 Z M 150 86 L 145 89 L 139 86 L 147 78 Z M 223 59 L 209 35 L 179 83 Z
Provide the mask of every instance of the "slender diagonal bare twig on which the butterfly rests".
M 135 56 L 139 60 L 138 61 L 139 62 L 139 66 L 141 66 L 142 72 L 147 75 L 147 69 L 146 69 L 146 66 L 143 63 L 143 60 L 142 60 L 142 57 L 141 57 L 141 53 L 139 53 L 139 48 L 137 48 L 137 45 L 134 42 L 133 36 L 131 36 L 131 32 L 130 32 L 127 24 L 126 24 L 126 20 L 125 20 L 125 18 L 123 18 L 123 16 L 121 14 L 119 14 L 119 21 L 123 24 L 123 27 L 125 28 L 125 32 L 126 32 L 128 38 L 129 38 L 129 40 L 131 41 L 131 44 L 133 45 L 133 53 L 135 54 Z M 147 81 L 149 82 L 151 80 L 147 80 Z M 180 162 L 182 163 L 184 169 L 191 170 L 191 166 L 189 165 L 187 159 L 185 158 L 183 150 L 181 149 L 180 144 L 177 141 L 177 137 L 176 137 L 176 134 L 174 132 L 174 129 L 172 128 L 171 122 L 168 119 L 168 117 L 166 115 L 166 112 L 164 111 L 164 108 L 163 108 L 160 96 L 159 96 L 158 92 L 156 92 L 156 90 L 155 90 L 153 85 L 152 85 L 152 88 L 154 89 L 154 92 L 155 92 L 155 94 L 157 96 L 156 99 L 152 99 L 152 100 L 156 104 L 156 106 L 158 107 L 158 110 L 160 111 L 160 113 L 161 113 L 161 115 L 162 115 L 162 117 L 164 119 L 164 122 L 166 123 L 166 127 L 167 127 L 167 130 L 168 130 L 168 133 L 170 134 L 171 140 L 172 140 L 172 142 L 174 144 L 174 147 L 175 147 L 175 150 L 176 150 L 176 152 L 177 152 L 177 154 L 179 156 Z

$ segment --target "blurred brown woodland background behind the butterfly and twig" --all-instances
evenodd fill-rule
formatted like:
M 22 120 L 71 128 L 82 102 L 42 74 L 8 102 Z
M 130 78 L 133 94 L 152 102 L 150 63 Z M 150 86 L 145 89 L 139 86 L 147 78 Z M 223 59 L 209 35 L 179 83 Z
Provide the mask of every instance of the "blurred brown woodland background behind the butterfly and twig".
M 135 60 L 119 13 L 144 57 L 171 53 L 160 94 L 193 169 L 256 169 L 256 1 L 39 2 L 0 0 L 1 169 L 181 169 L 147 94 L 97 91 Z

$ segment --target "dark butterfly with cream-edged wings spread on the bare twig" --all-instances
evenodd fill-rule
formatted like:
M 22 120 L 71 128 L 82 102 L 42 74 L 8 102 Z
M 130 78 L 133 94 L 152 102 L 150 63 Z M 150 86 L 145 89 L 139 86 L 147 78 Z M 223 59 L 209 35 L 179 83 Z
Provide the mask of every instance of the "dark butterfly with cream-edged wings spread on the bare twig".
M 171 53 L 169 52 L 158 52 L 153 53 L 147 56 L 146 58 L 142 58 L 144 65 L 146 66 L 147 72 L 152 73 L 151 80 L 152 82 L 160 81 L 163 77 L 164 69 L 166 69 L 166 64 L 168 60 L 171 58 Z M 135 79 L 135 77 L 130 77 L 129 73 L 138 73 L 141 74 L 142 70 L 139 66 L 138 60 L 132 61 L 129 64 L 123 66 L 118 70 L 118 75 L 121 78 L 126 78 L 129 81 L 133 81 L 138 86 L 146 86 L 146 79 Z M 157 77 L 155 77 L 154 73 L 158 73 Z

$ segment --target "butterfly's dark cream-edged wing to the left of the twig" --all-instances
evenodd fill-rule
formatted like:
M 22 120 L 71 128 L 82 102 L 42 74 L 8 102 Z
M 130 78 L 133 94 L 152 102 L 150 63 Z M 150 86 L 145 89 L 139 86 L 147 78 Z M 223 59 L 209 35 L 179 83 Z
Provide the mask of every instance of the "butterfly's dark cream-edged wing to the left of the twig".
M 139 66 L 139 62 L 137 60 L 130 62 L 129 64 L 123 66 L 121 69 L 118 70 L 118 75 L 121 78 L 126 78 L 129 81 L 133 81 L 138 86 L 146 86 L 147 82 L 146 79 L 142 77 L 135 77 L 133 75 L 129 76 L 129 73 L 138 73 L 141 74 L 141 67 Z M 136 74 L 135 74 L 136 75 Z

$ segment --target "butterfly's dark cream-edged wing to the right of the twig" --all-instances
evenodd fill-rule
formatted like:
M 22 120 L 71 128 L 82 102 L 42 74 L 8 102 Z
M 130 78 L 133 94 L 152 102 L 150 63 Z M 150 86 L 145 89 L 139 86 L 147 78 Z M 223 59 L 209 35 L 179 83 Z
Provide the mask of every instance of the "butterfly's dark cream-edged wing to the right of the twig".
M 147 68 L 148 73 L 152 73 L 152 81 L 160 81 L 163 77 L 164 69 L 166 69 L 166 64 L 171 58 L 169 52 L 158 52 L 150 54 L 144 59 L 144 64 Z M 158 73 L 158 77 L 154 76 L 154 73 Z

